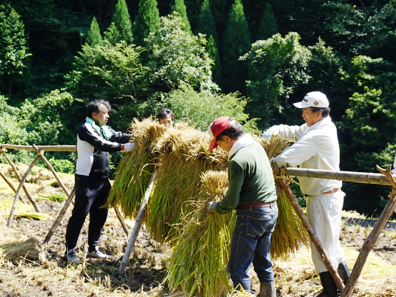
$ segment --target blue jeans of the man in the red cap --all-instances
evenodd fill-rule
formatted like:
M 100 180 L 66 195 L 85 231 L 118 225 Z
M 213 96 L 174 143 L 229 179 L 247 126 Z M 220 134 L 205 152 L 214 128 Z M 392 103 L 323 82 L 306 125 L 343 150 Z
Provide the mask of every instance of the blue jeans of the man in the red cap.
M 260 282 L 274 281 L 270 256 L 271 234 L 278 217 L 276 204 L 237 210 L 237 222 L 231 241 L 230 259 L 227 270 L 231 274 L 234 288 L 250 290 L 248 271 L 253 263 Z

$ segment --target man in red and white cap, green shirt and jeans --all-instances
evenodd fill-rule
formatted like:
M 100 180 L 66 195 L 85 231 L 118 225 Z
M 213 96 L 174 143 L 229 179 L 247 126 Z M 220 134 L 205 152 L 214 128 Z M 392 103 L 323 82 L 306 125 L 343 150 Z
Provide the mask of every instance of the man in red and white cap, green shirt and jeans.
M 222 116 L 208 127 L 209 151 L 228 151 L 228 191 L 220 202 L 209 202 L 208 213 L 237 209 L 227 270 L 234 288 L 250 291 L 248 270 L 253 263 L 260 280 L 260 297 L 276 297 L 270 257 L 271 234 L 278 217 L 274 177 L 267 154 L 233 118 Z

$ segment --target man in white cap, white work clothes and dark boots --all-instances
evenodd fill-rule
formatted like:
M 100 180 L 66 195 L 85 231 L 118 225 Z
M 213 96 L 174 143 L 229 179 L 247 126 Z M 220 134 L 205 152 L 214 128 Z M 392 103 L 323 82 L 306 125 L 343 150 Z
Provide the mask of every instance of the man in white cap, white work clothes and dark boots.
M 337 128 L 329 117 L 330 107 L 326 96 L 320 92 L 308 93 L 301 102 L 294 103 L 302 108 L 305 124 L 301 126 L 272 126 L 263 138 L 280 135 L 294 142 L 275 158 L 279 167 L 340 170 L 340 148 Z M 333 267 L 344 283 L 349 277 L 349 269 L 340 245 L 341 211 L 345 193 L 342 182 L 330 179 L 299 177 L 302 194 L 306 197 L 307 219 L 323 247 L 330 255 Z M 317 297 L 337 297 L 337 287 L 320 253 L 311 242 L 312 261 L 319 273 L 323 290 Z

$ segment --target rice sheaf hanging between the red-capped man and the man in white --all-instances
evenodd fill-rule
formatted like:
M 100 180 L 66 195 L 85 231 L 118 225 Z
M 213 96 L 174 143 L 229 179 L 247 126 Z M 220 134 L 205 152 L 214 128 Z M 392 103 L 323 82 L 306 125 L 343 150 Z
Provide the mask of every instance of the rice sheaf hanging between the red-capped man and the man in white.
M 256 141 L 259 141 L 264 148 L 268 158 L 276 157 L 289 146 L 289 143 L 279 136 L 272 136 L 269 142 L 262 139 L 256 139 Z M 278 181 L 275 180 L 275 184 L 277 183 Z M 291 254 L 298 251 L 301 245 L 307 246 L 309 240 L 308 234 L 284 190 L 279 195 L 277 204 L 279 213 L 271 238 L 271 257 L 286 260 Z

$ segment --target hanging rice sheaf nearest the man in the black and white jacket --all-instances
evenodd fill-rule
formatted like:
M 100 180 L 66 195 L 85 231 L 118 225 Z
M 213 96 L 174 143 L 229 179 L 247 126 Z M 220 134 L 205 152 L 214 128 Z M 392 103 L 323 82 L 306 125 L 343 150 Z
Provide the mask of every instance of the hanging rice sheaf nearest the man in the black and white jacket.
M 147 153 L 154 148 L 158 139 L 167 130 L 164 125 L 147 118 L 134 118 L 128 131 L 135 143 L 132 152 L 126 152 L 117 167 L 114 183 L 107 198 L 106 206 L 119 205 L 127 217 L 136 217 L 145 195 L 155 162 Z

